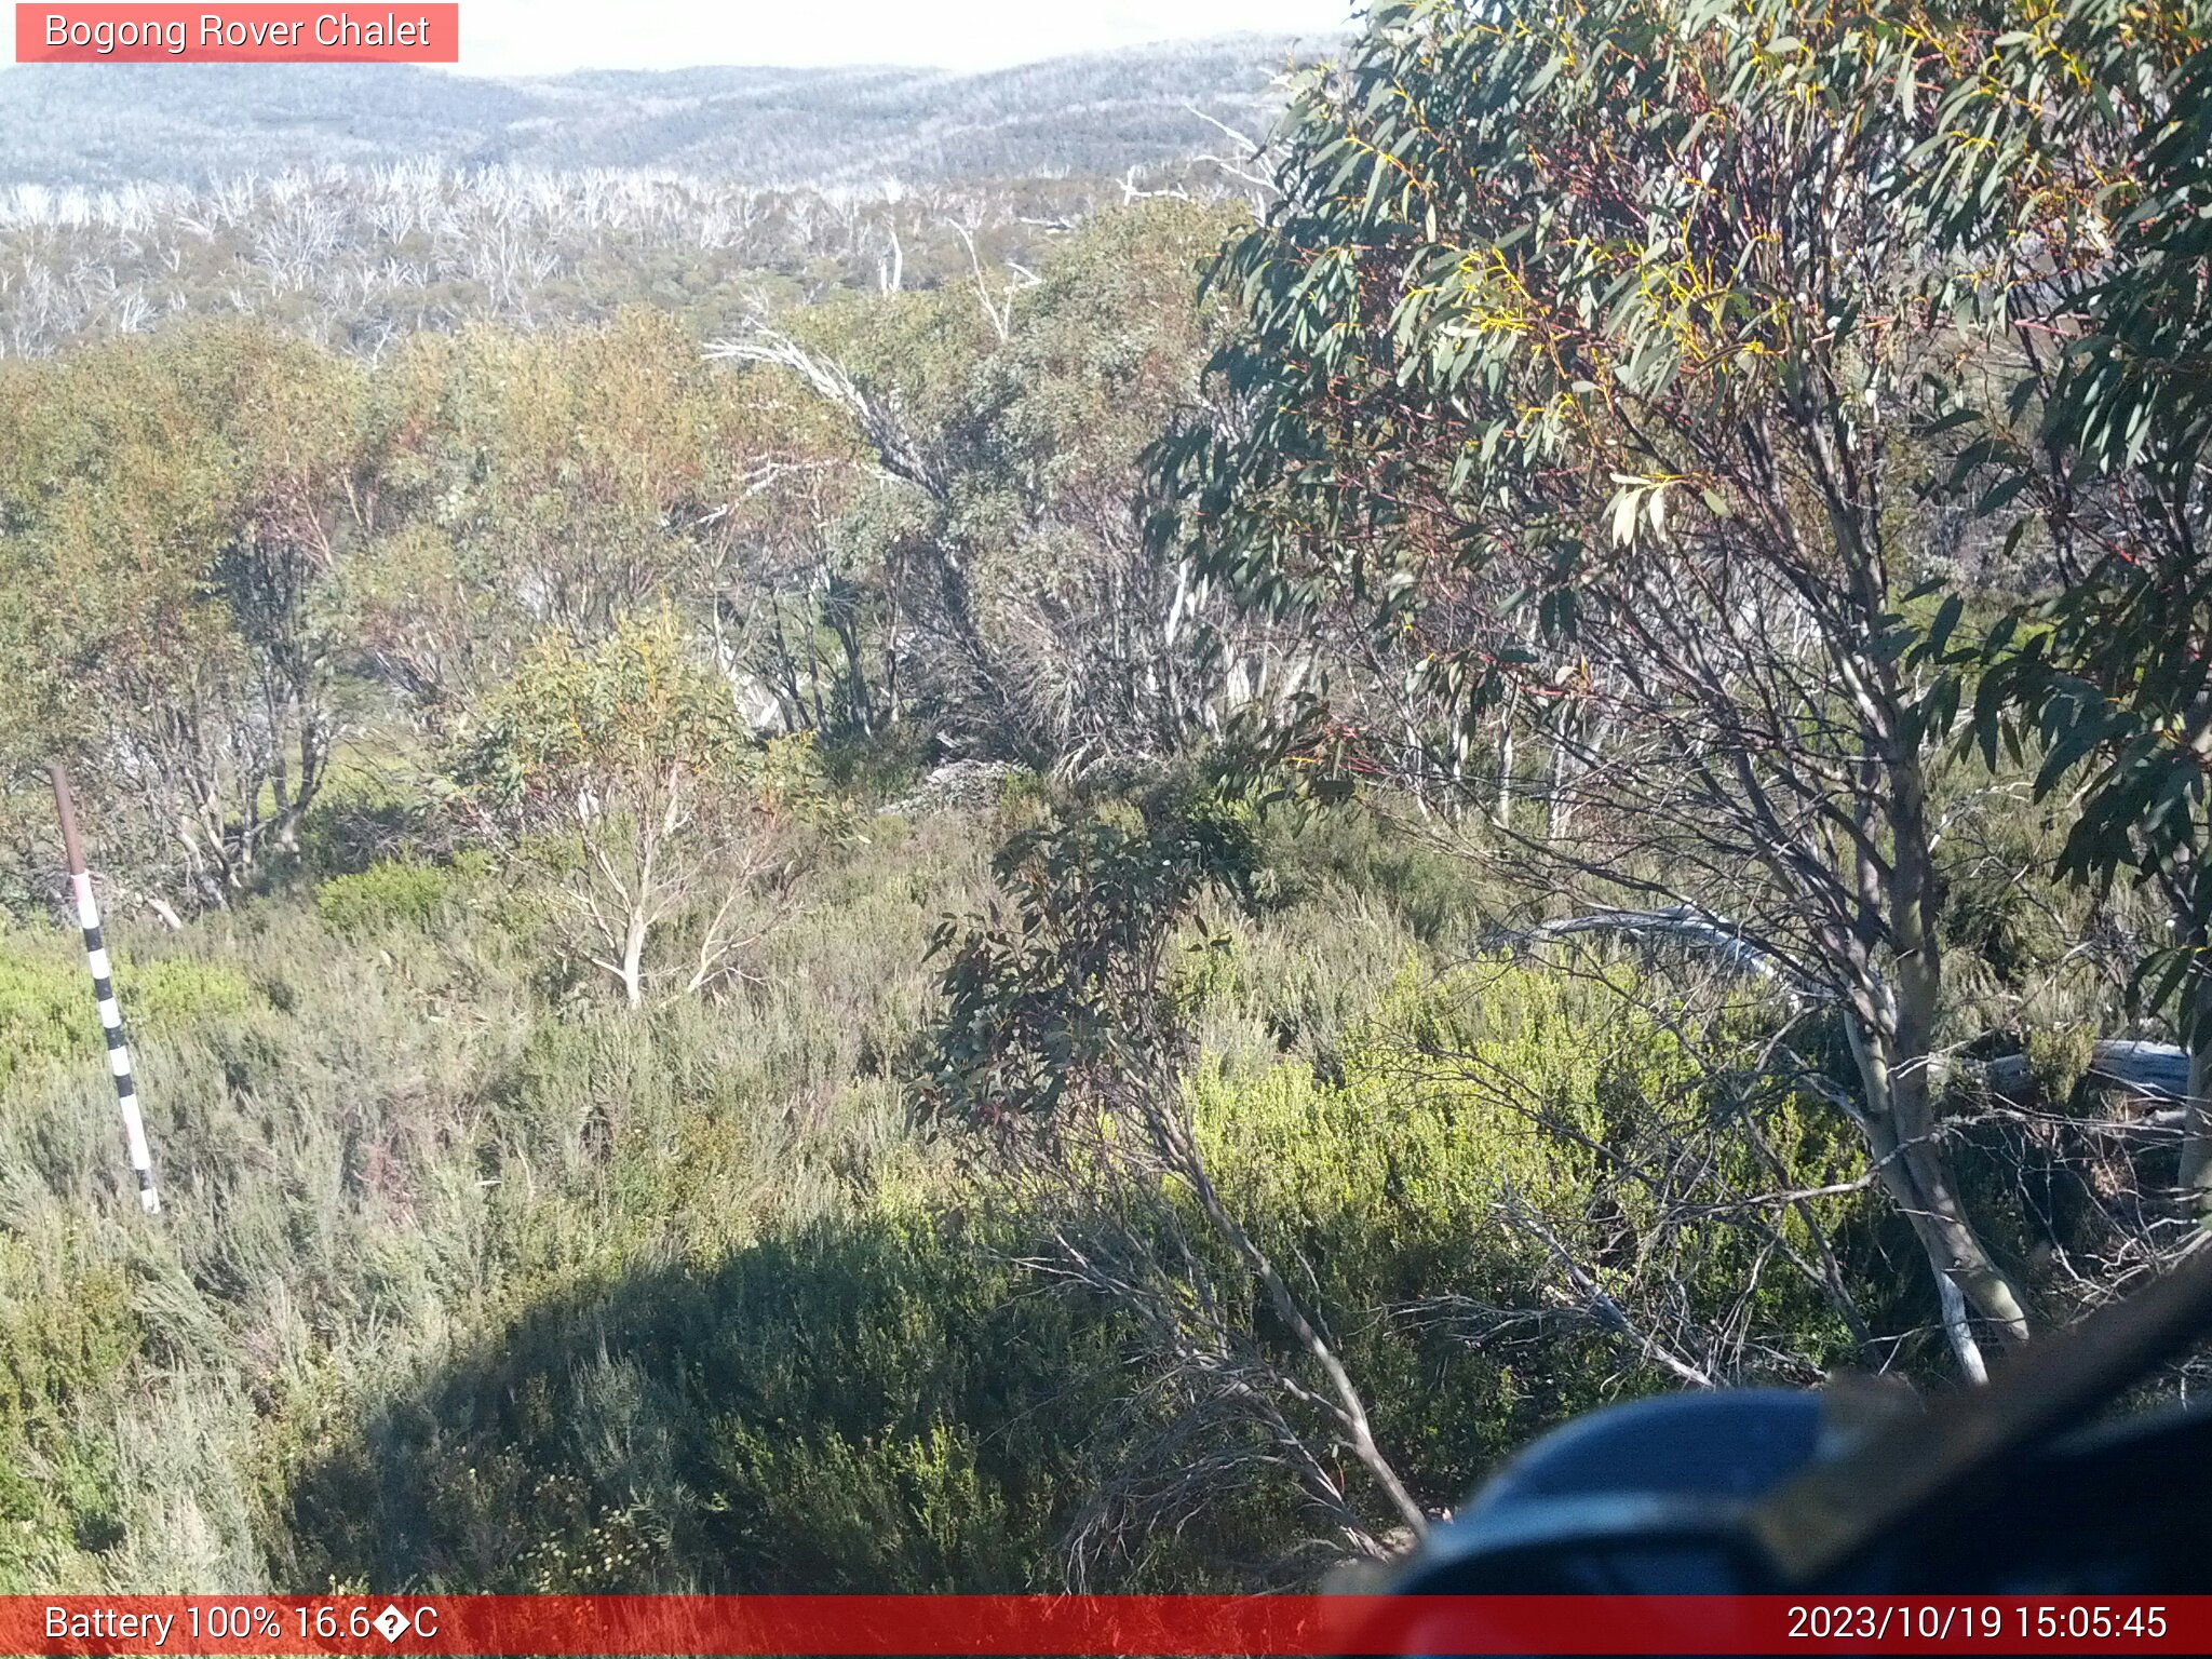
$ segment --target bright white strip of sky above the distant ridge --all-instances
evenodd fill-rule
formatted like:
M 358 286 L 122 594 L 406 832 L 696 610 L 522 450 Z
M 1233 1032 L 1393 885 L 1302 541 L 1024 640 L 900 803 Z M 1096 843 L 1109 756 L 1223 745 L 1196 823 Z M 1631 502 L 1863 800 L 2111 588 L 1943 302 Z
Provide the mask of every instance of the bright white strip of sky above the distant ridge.
M 1150 40 L 1336 33 L 1352 0 L 462 0 L 460 69 L 1002 69 Z

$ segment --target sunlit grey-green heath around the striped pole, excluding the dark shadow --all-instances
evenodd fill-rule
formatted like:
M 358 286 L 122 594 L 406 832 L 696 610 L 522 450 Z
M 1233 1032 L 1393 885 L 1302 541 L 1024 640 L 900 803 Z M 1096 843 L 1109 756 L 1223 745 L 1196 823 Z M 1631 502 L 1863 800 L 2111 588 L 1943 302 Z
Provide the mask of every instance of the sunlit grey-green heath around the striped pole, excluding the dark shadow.
M 644 1022 L 549 1004 L 493 872 L 119 927 L 150 1221 L 82 953 L 0 938 L 0 1332 L 38 1334 L 0 1343 L 0 1590 L 265 1588 L 285 1467 L 471 1334 L 916 1181 L 883 1057 L 978 872 L 883 843 L 739 998 Z

